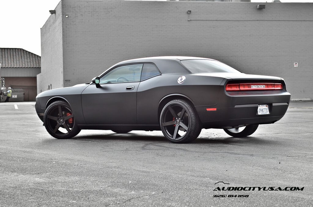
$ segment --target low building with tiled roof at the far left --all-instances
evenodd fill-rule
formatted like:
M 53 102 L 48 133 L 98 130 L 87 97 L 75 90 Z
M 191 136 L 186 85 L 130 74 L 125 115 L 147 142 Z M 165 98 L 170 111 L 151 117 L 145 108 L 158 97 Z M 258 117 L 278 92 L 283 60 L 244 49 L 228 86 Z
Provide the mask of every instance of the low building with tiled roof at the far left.
M 40 56 L 21 48 L 0 48 L 1 77 L 13 94 L 18 91 L 23 98 L 16 100 L 35 101 L 37 95 L 37 74 L 40 73 Z M 10 101 L 14 101 L 12 97 Z

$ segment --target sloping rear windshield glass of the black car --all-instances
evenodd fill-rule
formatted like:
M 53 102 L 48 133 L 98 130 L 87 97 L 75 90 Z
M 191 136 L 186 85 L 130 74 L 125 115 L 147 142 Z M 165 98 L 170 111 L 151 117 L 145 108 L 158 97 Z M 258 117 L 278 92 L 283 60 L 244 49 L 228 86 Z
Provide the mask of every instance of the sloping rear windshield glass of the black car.
M 181 60 L 180 61 L 192 73 L 240 73 L 224 63 L 216 60 Z

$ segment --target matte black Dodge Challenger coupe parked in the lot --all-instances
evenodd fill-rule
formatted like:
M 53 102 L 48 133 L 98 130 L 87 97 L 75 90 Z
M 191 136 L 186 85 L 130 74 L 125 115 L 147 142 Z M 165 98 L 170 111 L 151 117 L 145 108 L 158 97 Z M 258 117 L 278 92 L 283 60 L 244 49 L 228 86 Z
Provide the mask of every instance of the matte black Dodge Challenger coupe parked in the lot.
M 249 136 L 259 124 L 280 120 L 289 102 L 282 78 L 208 58 L 152 57 L 117 63 L 91 83 L 44 91 L 35 108 L 58 139 L 81 129 L 162 130 L 171 142 L 187 143 L 203 128 Z

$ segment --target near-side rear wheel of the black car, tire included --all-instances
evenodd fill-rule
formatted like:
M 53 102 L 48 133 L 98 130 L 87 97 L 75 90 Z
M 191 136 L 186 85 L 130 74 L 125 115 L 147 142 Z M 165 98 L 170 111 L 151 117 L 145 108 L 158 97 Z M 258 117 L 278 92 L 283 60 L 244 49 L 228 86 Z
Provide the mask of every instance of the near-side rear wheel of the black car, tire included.
M 182 99 L 172 100 L 163 107 L 160 126 L 164 136 L 172 143 L 192 142 L 202 129 L 195 107 Z

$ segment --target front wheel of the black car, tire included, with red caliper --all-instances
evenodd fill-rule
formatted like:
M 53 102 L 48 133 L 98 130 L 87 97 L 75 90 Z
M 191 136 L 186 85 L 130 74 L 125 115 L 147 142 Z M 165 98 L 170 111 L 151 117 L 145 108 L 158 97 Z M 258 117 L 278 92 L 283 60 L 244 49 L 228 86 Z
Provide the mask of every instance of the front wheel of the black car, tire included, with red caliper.
M 55 101 L 47 107 L 44 112 L 44 126 L 57 139 L 69 139 L 80 132 L 72 109 L 65 101 Z

